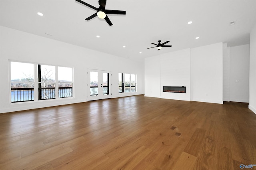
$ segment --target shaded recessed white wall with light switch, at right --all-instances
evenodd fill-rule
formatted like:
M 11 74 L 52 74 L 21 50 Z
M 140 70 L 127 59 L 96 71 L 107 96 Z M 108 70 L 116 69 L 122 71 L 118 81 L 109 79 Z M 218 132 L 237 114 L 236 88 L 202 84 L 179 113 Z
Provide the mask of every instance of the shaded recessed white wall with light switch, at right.
M 249 44 L 230 47 L 230 101 L 249 103 Z

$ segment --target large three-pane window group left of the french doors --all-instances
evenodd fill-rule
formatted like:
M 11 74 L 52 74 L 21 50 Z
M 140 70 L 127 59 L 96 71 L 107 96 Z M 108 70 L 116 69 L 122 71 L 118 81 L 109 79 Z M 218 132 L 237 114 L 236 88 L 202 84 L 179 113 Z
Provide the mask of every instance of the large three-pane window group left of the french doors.
M 71 67 L 12 61 L 10 66 L 12 103 L 34 101 L 35 90 L 38 96 L 36 100 L 56 99 L 56 96 L 58 98 L 73 97 L 73 69 Z M 37 69 L 37 79 L 34 78 L 36 77 L 34 68 Z

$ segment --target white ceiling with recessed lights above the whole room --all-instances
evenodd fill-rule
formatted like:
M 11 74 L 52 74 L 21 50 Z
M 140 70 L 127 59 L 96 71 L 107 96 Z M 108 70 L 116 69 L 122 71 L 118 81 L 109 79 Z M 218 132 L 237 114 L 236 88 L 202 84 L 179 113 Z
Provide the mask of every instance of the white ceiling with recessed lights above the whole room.
M 84 2 L 99 6 L 98 0 Z M 96 11 L 75 0 L 0 0 L 0 25 L 143 60 L 218 42 L 243 45 L 256 23 L 256 0 L 107 0 L 106 9 L 125 10 L 126 15 L 108 15 L 113 23 L 109 26 L 97 17 L 84 20 Z M 235 25 L 230 26 L 232 21 Z M 170 41 L 166 45 L 172 47 L 147 49 L 158 40 Z

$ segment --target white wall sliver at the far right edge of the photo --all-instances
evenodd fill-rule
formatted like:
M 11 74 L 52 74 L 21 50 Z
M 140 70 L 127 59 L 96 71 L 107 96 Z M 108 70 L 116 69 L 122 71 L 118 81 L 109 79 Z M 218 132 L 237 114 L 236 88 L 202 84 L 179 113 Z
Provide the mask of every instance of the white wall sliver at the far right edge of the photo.
M 250 97 L 249 109 L 256 114 L 256 24 L 250 32 Z

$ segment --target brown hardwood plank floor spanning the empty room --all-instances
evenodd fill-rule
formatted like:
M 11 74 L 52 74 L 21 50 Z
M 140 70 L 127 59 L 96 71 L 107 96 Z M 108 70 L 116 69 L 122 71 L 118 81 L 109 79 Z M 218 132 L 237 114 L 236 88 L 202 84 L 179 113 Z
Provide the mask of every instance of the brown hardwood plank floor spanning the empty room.
M 248 103 L 138 95 L 0 114 L 1 170 L 236 170 L 240 164 L 256 164 L 256 115 Z

